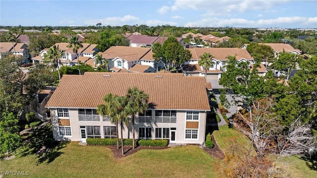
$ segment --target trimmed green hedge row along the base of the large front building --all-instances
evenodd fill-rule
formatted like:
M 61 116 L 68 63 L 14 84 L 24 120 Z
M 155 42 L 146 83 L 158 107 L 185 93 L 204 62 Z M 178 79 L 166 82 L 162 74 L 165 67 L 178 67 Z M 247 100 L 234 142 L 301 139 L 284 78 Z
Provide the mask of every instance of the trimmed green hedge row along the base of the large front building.
M 86 143 L 88 145 L 116 145 L 116 138 L 87 138 Z M 131 146 L 133 143 L 132 139 L 124 139 L 123 144 L 126 146 Z M 119 138 L 119 144 L 121 145 L 121 138 Z M 151 139 L 141 139 L 136 140 L 136 144 L 140 146 L 167 146 L 167 140 L 151 140 Z

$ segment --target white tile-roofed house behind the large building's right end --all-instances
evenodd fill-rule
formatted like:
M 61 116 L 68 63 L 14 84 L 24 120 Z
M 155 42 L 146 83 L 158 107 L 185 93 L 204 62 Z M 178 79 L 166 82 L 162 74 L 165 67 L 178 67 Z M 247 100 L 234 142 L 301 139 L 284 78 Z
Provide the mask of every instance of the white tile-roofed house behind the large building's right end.
M 192 48 L 189 49 L 192 54 L 192 59 L 185 62 L 182 67 L 185 69 L 184 73 L 191 76 L 205 76 L 205 69 L 203 66 L 198 67 L 198 61 L 200 56 L 204 53 L 210 53 L 212 55 L 212 61 L 214 65 L 207 69 L 207 79 L 220 79 L 221 73 L 225 71 L 226 57 L 235 56 L 238 62 L 249 61 L 254 62 L 254 59 L 248 53 L 246 49 L 239 48 Z M 190 65 L 187 65 L 190 64 Z M 195 69 L 195 70 L 194 70 Z M 193 70 L 193 71 L 191 71 Z

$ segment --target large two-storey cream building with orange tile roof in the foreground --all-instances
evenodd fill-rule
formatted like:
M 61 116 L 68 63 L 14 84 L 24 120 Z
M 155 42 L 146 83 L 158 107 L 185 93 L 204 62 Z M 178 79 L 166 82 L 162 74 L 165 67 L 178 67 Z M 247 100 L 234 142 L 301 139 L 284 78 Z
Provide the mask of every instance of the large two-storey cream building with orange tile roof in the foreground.
M 85 72 L 63 75 L 46 108 L 51 111 L 55 140 L 86 142 L 87 138 L 115 138 L 115 124 L 97 114 L 103 98 L 125 96 L 138 87 L 149 95 L 149 109 L 136 118 L 136 138 L 168 139 L 175 144 L 204 144 L 210 110 L 204 77 L 182 73 Z M 123 138 L 131 138 L 131 122 Z

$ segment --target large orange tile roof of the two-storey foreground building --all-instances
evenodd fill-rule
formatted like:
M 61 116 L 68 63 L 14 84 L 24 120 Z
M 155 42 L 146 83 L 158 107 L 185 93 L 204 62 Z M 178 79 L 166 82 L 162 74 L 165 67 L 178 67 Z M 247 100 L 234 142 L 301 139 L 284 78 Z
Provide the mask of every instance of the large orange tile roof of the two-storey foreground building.
M 129 87 L 149 94 L 156 109 L 210 111 L 204 77 L 182 73 L 85 72 L 63 75 L 48 108 L 97 108 L 108 93 L 125 96 Z

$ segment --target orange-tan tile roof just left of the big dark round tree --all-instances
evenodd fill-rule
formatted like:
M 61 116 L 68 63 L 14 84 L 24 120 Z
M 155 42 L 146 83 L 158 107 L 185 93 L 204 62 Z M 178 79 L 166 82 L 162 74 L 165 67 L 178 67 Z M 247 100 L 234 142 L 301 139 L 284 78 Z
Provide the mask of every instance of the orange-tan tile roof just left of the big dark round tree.
M 104 53 L 99 53 L 104 59 L 114 59 L 119 57 L 126 61 L 140 60 L 151 48 L 135 48 L 127 46 L 112 46 Z

